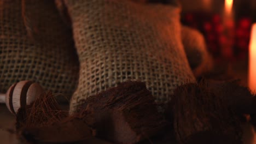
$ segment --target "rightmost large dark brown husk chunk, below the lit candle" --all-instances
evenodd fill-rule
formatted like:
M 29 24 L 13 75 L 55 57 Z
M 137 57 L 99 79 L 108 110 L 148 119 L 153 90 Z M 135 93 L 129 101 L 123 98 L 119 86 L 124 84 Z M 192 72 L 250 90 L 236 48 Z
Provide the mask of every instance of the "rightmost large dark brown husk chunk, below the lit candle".
M 174 130 L 180 143 L 242 143 L 237 115 L 206 86 L 180 86 L 174 91 L 173 100 Z

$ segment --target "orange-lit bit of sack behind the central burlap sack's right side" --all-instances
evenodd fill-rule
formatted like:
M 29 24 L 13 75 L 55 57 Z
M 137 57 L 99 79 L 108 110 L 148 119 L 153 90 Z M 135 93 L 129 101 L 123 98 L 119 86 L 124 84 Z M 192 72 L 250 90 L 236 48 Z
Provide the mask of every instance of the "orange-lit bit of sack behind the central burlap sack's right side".
M 182 43 L 194 75 L 200 76 L 213 69 L 213 59 L 207 51 L 203 35 L 196 29 L 182 26 Z

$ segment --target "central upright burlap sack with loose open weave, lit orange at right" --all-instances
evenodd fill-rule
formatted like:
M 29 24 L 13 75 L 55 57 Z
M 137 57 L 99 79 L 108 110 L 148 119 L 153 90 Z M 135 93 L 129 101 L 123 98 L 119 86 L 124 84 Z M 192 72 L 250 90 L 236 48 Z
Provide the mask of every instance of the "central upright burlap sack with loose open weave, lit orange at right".
M 156 98 L 195 82 L 181 41 L 180 9 L 120 0 L 67 0 L 80 61 L 79 101 L 127 80 L 141 80 Z

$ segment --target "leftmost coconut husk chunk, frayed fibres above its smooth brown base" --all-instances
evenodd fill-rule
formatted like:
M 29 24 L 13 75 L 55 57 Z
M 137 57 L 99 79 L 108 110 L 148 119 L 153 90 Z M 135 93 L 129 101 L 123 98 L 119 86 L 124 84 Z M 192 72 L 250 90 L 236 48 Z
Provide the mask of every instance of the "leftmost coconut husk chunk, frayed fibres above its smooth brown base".
M 16 115 L 16 130 L 27 142 L 66 143 L 92 137 L 92 129 L 82 119 L 68 116 L 53 94 L 45 93 Z

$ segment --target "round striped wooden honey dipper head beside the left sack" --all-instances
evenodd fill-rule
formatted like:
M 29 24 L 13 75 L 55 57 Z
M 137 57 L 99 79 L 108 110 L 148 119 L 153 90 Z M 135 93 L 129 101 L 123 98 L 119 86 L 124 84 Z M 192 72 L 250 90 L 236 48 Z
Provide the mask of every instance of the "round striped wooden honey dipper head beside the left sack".
M 31 104 L 43 92 L 43 88 L 36 82 L 20 81 L 8 89 L 5 104 L 10 112 L 16 114 L 20 107 Z

